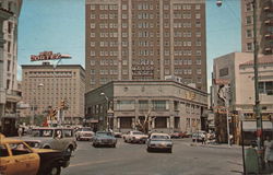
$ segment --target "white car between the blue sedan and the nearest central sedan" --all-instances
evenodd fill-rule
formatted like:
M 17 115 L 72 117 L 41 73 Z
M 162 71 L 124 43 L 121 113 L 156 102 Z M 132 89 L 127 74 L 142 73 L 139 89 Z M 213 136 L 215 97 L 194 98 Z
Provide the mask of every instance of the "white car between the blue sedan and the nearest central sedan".
M 128 131 L 127 135 L 123 135 L 124 142 L 128 143 L 145 143 L 147 136 L 141 131 Z

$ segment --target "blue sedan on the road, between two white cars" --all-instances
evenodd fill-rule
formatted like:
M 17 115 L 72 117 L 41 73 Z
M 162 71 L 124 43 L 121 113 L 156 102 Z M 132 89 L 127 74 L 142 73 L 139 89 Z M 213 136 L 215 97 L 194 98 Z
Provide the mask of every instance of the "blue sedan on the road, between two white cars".
M 116 148 L 117 139 L 110 131 L 97 131 L 93 139 L 93 147 L 108 145 Z

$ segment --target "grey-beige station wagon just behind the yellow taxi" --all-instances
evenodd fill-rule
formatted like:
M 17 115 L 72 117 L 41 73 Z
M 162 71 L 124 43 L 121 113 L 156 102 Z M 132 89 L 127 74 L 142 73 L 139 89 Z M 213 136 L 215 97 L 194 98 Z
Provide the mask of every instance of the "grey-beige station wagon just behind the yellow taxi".
M 40 127 L 32 129 L 31 136 L 22 137 L 32 148 L 54 149 L 72 153 L 76 142 L 72 128 Z

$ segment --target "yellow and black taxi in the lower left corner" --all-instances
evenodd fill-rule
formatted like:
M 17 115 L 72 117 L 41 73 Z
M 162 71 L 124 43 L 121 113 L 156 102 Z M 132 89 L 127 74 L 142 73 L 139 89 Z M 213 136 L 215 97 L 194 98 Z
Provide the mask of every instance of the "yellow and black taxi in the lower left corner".
M 0 174 L 59 175 L 69 166 L 70 154 L 56 150 L 32 149 L 22 140 L 1 137 Z

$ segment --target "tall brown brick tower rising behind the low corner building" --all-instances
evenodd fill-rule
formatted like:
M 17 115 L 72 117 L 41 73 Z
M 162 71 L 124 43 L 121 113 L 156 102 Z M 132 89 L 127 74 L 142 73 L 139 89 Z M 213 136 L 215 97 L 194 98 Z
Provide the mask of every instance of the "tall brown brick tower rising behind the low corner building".
M 86 0 L 86 92 L 180 77 L 206 91 L 204 0 Z

